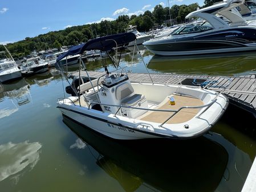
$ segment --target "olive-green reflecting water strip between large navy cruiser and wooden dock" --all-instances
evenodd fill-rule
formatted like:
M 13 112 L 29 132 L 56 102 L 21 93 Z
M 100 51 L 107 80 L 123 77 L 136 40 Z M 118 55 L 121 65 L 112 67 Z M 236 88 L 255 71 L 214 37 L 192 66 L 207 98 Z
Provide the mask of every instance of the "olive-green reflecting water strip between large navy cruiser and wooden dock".
M 255 71 L 255 52 L 206 56 L 153 56 L 148 68 L 161 72 L 246 75 Z

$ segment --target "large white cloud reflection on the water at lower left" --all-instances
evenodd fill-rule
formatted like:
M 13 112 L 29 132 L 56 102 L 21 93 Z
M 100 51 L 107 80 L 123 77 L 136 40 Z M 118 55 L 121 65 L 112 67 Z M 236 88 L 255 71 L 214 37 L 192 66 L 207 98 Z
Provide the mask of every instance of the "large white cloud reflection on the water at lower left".
M 39 142 L 28 141 L 0 145 L 0 182 L 11 176 L 18 181 L 23 169 L 29 167 L 32 170 L 39 161 L 40 148 L 42 145 Z

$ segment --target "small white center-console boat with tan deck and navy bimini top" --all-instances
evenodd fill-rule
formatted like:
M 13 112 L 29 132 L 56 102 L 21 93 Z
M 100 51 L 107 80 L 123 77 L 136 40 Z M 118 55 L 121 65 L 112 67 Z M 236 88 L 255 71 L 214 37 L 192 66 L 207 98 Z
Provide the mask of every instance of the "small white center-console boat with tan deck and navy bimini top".
M 109 51 L 116 43 L 125 44 L 135 39 L 131 32 L 93 39 L 71 48 L 59 56 L 57 62 L 92 48 Z M 67 92 L 73 96 L 58 99 L 57 107 L 64 117 L 119 140 L 185 139 L 207 132 L 227 107 L 227 98 L 221 92 L 206 89 L 207 86 L 157 84 L 149 73 L 152 83 L 131 82 L 125 68 L 119 67 L 120 59 L 110 59 L 116 70 L 109 73 L 105 67 L 105 75 L 95 80 L 91 80 L 80 59 L 89 81 L 80 75 L 78 79 L 74 77 L 71 86 L 66 88 L 71 89 L 72 92 Z

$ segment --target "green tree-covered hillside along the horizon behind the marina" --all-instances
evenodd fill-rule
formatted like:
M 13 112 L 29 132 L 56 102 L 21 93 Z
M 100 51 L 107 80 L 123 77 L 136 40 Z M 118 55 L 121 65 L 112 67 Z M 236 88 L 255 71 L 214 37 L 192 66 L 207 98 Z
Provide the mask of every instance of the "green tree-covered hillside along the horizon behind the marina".
M 214 0 L 205 0 L 205 5 L 212 5 Z M 100 23 L 84 24 L 82 26 L 68 27 L 65 30 L 51 31 L 47 34 L 38 35 L 34 38 L 25 38 L 19 42 L 6 45 L 14 58 L 26 56 L 31 51 L 41 51 L 50 48 L 61 48 L 62 46 L 71 46 L 82 42 L 87 42 L 97 36 L 117 34 L 124 32 L 129 24 L 136 25 L 139 31 L 149 31 L 153 26 L 160 25 L 168 21 L 170 17 L 176 23 L 184 23 L 185 17 L 190 12 L 200 7 L 198 3 L 190 5 L 173 5 L 170 7 L 155 6 L 151 11 L 145 11 L 140 15 L 120 15 L 115 21 L 101 21 Z M 201 7 L 200 7 L 201 8 Z M 169 15 L 170 12 L 170 15 Z M 167 22 L 169 24 L 169 22 Z M 0 51 L 5 50 L 0 46 Z

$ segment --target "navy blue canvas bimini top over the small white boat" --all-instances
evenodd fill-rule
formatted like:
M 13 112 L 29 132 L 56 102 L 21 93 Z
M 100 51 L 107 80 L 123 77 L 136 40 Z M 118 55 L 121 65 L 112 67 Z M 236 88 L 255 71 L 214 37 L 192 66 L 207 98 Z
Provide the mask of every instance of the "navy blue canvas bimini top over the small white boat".
M 82 44 L 79 44 L 78 46 L 74 46 L 70 48 L 70 50 L 60 55 L 57 58 L 56 62 L 59 62 L 59 60 L 66 58 L 68 55 L 82 54 L 84 51 L 89 51 L 89 50 L 109 51 L 113 47 L 124 46 L 124 44 L 132 42 L 135 39 L 136 39 L 136 36 L 132 32 L 124 32 L 120 34 L 108 35 L 108 36 L 92 39 L 87 43 L 82 43 Z

